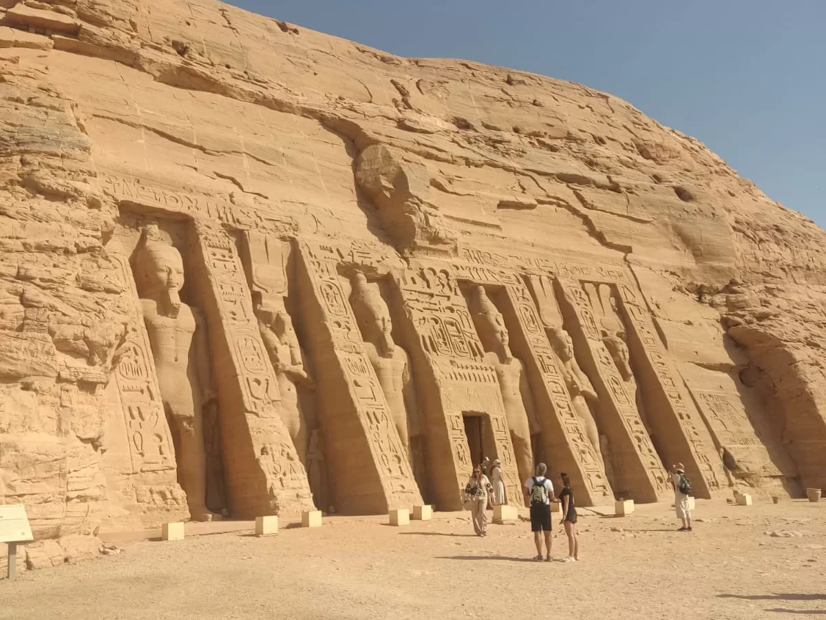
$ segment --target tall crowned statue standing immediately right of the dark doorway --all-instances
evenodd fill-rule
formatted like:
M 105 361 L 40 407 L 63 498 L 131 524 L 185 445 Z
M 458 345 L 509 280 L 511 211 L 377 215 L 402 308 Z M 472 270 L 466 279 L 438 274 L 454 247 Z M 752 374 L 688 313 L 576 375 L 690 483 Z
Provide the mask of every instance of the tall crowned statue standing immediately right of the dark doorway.
M 487 297 L 483 286 L 473 289 L 471 307 L 479 339 L 487 351 L 485 358 L 496 368 L 510 429 L 510 441 L 516 457 L 516 468 L 519 470 L 520 479 L 526 480 L 534 474 L 531 428 L 537 425 L 534 398 L 525 375 L 525 365 L 511 353 L 505 319 Z

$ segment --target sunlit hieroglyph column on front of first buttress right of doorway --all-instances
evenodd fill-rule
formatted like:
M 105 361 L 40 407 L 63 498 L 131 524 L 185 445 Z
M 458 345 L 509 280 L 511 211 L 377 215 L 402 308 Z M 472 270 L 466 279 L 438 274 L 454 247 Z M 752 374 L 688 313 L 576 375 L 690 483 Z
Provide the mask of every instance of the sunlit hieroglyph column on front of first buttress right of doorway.
M 520 327 L 528 343 L 531 358 L 538 365 L 544 389 L 547 390 L 548 398 L 553 406 L 553 413 L 556 414 L 558 424 L 563 429 L 567 445 L 571 446 L 575 464 L 582 473 L 586 492 L 591 501 L 596 502 L 597 498 L 608 494 L 608 484 L 591 442 L 585 436 L 574 411 L 571 395 L 565 386 L 565 379 L 558 367 L 557 356 L 554 355 L 548 336 L 545 334 L 534 299 L 519 278 L 508 284 L 506 291 L 510 303 L 513 304 L 520 317 Z

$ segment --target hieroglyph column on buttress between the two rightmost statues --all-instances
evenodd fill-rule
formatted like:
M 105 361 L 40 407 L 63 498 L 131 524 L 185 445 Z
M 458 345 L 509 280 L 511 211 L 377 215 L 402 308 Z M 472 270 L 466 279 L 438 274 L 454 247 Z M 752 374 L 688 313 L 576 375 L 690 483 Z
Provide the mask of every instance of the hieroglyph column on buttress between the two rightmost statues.
M 634 490 L 637 490 L 642 480 L 628 468 L 633 468 L 635 465 L 641 466 L 642 473 L 650 485 L 651 494 L 656 498 L 657 495 L 667 491 L 667 481 L 657 451 L 654 450 L 651 437 L 648 436 L 643 420 L 639 415 L 636 395 L 628 393 L 615 361 L 611 358 L 610 352 L 605 346 L 601 331 L 597 326 L 594 308 L 592 308 L 591 301 L 582 289 L 582 283 L 579 280 L 568 278 L 558 278 L 558 283 L 564 298 L 573 309 L 578 327 L 582 329 L 586 336 L 588 344 L 586 353 L 591 355 L 591 360 L 599 375 L 594 379 L 597 383 L 602 382 L 605 388 L 601 390 L 603 392 L 601 400 L 603 401 L 604 411 L 618 417 L 625 431 L 624 435 L 614 433 L 610 437 L 611 441 L 620 444 L 611 449 L 611 453 L 615 457 L 615 473 L 620 478 L 624 475 L 631 478 L 625 481 L 624 489 L 636 488 Z M 630 463 L 628 459 L 623 459 L 622 465 L 619 465 L 619 458 L 624 452 L 634 455 L 635 462 Z

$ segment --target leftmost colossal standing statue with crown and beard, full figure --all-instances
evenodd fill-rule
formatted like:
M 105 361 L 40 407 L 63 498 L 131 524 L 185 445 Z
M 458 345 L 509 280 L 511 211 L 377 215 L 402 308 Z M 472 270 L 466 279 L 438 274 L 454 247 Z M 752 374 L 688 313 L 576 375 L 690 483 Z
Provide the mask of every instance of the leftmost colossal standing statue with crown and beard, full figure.
M 207 510 L 207 457 L 203 407 L 213 400 L 207 326 L 201 312 L 182 303 L 183 260 L 146 227 L 135 253 L 135 282 L 158 372 L 161 399 L 178 436 L 178 473 L 193 521 L 211 521 Z

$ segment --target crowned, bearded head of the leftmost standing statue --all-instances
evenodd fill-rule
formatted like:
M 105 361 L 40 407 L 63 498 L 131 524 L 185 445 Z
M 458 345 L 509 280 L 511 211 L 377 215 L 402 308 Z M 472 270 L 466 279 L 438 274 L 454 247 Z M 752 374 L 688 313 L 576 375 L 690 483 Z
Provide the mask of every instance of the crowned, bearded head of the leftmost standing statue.
M 145 227 L 142 243 L 135 252 L 135 283 L 142 298 L 164 298 L 177 314 L 183 287 L 183 259 L 178 250 L 159 240 L 158 227 Z

